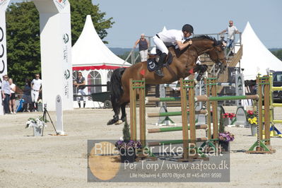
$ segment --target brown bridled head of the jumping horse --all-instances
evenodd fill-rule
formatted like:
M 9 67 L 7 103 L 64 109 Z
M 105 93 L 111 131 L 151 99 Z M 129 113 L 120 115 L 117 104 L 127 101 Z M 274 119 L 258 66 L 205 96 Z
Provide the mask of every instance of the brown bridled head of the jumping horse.
M 227 62 L 224 53 L 223 40 L 214 41 L 213 48 L 206 52 L 212 61 L 214 61 L 217 66 L 221 69 L 221 73 L 226 69 Z

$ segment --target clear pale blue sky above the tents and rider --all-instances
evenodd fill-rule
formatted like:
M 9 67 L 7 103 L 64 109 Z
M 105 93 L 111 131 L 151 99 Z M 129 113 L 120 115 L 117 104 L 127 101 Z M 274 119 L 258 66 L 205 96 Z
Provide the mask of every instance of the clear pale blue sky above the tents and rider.
M 108 47 L 133 47 L 141 33 L 155 35 L 165 26 L 181 29 L 189 23 L 195 34 L 219 33 L 233 20 L 243 31 L 247 21 L 268 48 L 282 47 L 282 0 L 93 0 L 114 25 L 105 38 Z

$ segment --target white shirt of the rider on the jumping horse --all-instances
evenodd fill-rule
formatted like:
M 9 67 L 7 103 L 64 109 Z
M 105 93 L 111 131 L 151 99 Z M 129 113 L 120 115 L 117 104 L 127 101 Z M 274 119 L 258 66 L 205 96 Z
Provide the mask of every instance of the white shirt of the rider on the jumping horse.
M 160 40 L 163 42 L 171 42 L 175 43 L 176 41 L 182 41 L 184 39 L 184 35 L 182 30 L 164 30 L 158 33 Z

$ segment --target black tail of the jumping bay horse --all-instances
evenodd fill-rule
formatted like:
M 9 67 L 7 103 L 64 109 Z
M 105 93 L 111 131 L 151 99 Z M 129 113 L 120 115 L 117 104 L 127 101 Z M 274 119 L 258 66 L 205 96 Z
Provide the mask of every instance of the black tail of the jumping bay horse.
M 112 107 L 117 106 L 117 102 L 122 97 L 124 91 L 122 90 L 122 74 L 124 74 L 125 68 L 115 69 L 112 72 L 110 80 L 110 90 L 111 90 L 111 101 Z

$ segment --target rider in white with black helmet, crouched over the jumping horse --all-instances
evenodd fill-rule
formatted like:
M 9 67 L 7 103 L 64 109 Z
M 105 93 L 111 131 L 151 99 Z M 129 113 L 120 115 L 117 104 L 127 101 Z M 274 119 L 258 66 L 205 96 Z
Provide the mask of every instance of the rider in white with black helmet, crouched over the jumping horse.
M 168 56 L 168 47 L 165 46 L 165 43 L 176 43 L 180 50 L 184 49 L 188 45 L 192 45 L 192 40 L 183 44 L 184 38 L 190 37 L 194 33 L 192 25 L 185 24 L 182 27 L 182 30 L 164 30 L 153 37 L 153 42 L 158 49 L 162 52 L 160 54 L 160 59 L 158 60 L 158 68 L 155 70 L 155 74 L 158 76 L 164 76 L 163 71 L 160 69 L 165 59 Z

